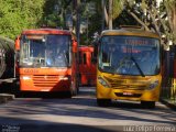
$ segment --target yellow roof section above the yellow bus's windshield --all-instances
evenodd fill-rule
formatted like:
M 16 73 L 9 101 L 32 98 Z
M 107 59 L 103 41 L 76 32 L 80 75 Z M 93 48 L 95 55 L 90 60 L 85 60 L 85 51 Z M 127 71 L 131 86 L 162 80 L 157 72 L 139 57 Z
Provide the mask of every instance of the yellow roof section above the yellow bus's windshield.
M 142 29 L 133 29 L 133 28 L 122 28 L 119 30 L 105 30 L 101 32 L 101 36 L 103 35 L 131 35 L 131 36 L 146 36 L 146 37 L 160 38 L 160 35 L 154 32 L 144 31 Z

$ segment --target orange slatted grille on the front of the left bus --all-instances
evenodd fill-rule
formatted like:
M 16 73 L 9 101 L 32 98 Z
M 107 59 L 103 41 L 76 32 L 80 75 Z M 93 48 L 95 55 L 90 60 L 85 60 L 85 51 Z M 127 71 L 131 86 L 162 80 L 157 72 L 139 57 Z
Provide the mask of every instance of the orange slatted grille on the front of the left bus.
M 35 87 L 54 87 L 58 82 L 57 75 L 34 75 L 33 84 Z

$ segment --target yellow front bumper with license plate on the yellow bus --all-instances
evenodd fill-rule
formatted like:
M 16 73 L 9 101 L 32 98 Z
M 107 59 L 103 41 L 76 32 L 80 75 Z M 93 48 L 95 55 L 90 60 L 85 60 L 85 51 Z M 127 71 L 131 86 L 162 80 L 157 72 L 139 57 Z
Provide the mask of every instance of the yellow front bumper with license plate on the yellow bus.
M 153 90 L 129 90 L 97 87 L 97 99 L 133 100 L 133 101 L 158 101 L 160 87 Z

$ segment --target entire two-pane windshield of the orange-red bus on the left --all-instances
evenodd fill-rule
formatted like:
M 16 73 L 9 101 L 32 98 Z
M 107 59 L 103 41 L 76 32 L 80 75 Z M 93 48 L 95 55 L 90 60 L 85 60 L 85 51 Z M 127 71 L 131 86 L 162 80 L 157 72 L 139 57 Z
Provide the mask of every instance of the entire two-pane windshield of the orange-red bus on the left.
M 70 35 L 22 35 L 21 67 L 67 67 L 70 65 Z

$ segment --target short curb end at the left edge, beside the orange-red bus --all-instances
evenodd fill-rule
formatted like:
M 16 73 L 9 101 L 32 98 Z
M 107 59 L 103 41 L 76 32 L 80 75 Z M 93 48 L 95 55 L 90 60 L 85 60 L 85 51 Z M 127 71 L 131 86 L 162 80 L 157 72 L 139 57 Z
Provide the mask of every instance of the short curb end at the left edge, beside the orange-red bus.
M 0 94 L 0 103 L 7 103 L 14 99 L 14 95 L 10 94 Z

